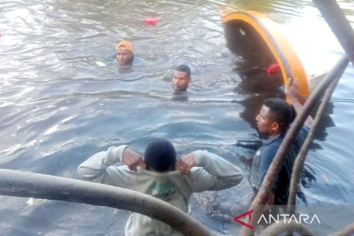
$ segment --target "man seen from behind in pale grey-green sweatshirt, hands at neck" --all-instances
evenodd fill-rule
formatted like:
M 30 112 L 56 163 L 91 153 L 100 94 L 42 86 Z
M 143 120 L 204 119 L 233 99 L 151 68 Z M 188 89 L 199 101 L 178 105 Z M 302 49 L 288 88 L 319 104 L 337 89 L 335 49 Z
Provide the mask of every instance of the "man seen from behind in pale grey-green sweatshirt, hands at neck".
M 177 159 L 175 148 L 165 139 L 151 142 L 145 149 L 144 160 L 127 145 L 112 146 L 83 162 L 78 172 L 85 180 L 143 192 L 184 212 L 188 212 L 193 192 L 227 189 L 239 184 L 243 176 L 238 167 L 206 150 Z M 125 235 L 182 234 L 159 220 L 132 213 Z

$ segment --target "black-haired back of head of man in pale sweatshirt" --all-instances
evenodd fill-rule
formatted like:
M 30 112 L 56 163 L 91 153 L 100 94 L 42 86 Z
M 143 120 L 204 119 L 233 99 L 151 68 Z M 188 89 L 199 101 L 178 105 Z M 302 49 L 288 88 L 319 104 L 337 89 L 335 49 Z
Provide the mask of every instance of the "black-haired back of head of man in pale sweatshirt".
M 144 162 L 148 170 L 151 168 L 158 172 L 173 170 L 176 164 L 176 150 L 168 140 L 156 139 L 145 149 Z

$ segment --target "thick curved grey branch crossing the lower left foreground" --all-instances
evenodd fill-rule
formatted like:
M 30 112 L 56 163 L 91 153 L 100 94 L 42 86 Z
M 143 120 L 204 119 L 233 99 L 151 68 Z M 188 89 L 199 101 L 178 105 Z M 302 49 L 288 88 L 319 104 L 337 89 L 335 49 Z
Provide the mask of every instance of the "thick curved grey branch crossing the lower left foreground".
M 115 186 L 0 169 L 0 195 L 80 202 L 137 212 L 189 236 L 211 236 L 204 225 L 170 203 Z

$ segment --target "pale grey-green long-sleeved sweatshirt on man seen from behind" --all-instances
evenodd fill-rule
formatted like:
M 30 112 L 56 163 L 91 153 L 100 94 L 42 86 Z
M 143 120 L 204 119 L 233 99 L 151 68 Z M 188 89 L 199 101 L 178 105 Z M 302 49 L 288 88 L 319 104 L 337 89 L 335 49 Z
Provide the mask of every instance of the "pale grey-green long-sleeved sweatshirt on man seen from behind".
M 138 168 L 137 172 L 122 166 L 122 154 L 126 145 L 112 146 L 101 151 L 78 167 L 83 179 L 139 191 L 188 212 L 189 197 L 193 192 L 222 190 L 239 184 L 242 171 L 232 163 L 208 151 L 194 151 L 196 166 L 190 174 L 179 171 L 153 172 Z M 145 215 L 132 213 L 125 228 L 126 236 L 182 235 L 169 225 Z

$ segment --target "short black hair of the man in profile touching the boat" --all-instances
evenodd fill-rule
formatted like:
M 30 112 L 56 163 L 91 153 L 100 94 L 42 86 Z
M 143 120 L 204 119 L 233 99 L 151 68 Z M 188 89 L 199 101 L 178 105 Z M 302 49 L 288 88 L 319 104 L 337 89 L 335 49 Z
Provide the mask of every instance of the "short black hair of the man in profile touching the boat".
M 266 99 L 263 105 L 269 108 L 269 119 L 277 122 L 282 132 L 285 131 L 293 120 L 291 105 L 281 98 Z

